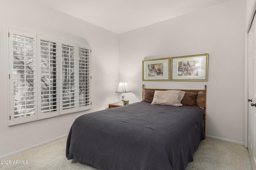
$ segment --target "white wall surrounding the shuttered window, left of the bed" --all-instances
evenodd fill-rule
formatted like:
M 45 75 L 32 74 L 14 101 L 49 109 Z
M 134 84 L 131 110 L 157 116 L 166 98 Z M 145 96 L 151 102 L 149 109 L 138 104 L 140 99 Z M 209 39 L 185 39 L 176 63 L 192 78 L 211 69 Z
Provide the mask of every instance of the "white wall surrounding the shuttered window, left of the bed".
M 8 127 L 7 27 L 92 47 L 92 109 Z M 0 1 L 0 159 L 68 134 L 76 117 L 118 100 L 118 35 L 34 0 Z

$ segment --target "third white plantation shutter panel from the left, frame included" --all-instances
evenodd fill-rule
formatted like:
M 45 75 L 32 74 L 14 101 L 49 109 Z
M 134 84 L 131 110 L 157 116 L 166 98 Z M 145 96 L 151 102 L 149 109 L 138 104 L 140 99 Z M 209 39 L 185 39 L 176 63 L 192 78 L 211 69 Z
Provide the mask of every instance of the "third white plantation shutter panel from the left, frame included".
M 76 44 L 61 41 L 60 54 L 62 56 L 60 62 L 60 72 L 62 72 L 60 77 L 60 114 L 64 114 L 77 110 Z

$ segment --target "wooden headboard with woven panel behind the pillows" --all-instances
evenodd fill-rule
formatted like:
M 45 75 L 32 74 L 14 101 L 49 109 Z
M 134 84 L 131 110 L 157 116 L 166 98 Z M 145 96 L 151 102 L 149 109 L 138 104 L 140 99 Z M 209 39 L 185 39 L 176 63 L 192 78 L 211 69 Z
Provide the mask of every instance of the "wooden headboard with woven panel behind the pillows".
M 181 89 L 158 89 L 158 88 L 144 88 L 144 84 L 142 85 L 143 89 L 146 90 L 181 90 Z M 183 90 L 184 92 L 197 92 L 196 98 L 196 106 L 200 107 L 203 110 L 203 119 L 204 119 L 204 135 L 206 132 L 206 85 L 204 85 L 203 90 Z M 143 98 L 143 90 L 142 90 L 142 98 Z

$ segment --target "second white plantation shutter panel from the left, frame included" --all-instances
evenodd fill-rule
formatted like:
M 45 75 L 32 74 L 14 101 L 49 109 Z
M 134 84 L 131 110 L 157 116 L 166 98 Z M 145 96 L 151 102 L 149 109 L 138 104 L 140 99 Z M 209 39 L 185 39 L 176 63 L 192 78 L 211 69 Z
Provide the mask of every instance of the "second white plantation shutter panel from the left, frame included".
M 59 112 L 58 40 L 38 36 L 38 118 L 51 117 Z

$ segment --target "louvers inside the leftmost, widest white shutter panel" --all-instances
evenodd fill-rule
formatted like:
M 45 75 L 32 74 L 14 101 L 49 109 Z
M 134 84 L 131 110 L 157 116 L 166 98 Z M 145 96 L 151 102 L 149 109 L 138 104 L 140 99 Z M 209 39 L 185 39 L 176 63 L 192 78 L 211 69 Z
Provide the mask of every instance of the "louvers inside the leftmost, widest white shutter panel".
M 12 35 L 14 118 L 34 115 L 36 112 L 36 49 L 35 39 Z

